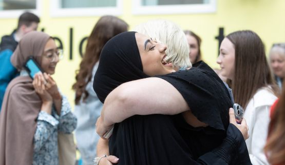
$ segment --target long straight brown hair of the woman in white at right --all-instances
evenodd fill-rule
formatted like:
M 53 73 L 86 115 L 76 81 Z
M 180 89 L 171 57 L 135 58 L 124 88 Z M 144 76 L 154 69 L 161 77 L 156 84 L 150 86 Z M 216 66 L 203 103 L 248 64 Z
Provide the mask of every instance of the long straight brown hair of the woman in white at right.
M 262 87 L 271 86 L 277 95 L 278 88 L 265 56 L 264 45 L 253 31 L 236 31 L 226 36 L 235 46 L 235 75 L 231 87 L 235 102 L 246 107 Z

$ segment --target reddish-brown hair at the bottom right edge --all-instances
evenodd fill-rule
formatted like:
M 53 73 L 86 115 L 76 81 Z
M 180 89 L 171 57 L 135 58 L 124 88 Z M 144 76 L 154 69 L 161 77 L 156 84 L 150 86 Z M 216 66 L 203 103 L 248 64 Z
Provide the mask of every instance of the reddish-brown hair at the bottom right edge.
M 285 88 L 272 114 L 268 141 L 264 147 L 270 164 L 285 163 Z

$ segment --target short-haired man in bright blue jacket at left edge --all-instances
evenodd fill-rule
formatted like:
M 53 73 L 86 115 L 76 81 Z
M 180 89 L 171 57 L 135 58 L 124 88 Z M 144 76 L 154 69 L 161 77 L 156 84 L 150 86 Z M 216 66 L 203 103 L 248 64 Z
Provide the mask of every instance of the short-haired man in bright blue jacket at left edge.
M 10 58 L 21 38 L 26 33 L 36 30 L 39 23 L 40 18 L 38 16 L 24 12 L 18 18 L 17 29 L 12 34 L 2 37 L 0 43 L 0 111 L 9 82 L 19 74 L 17 69 L 12 66 Z

